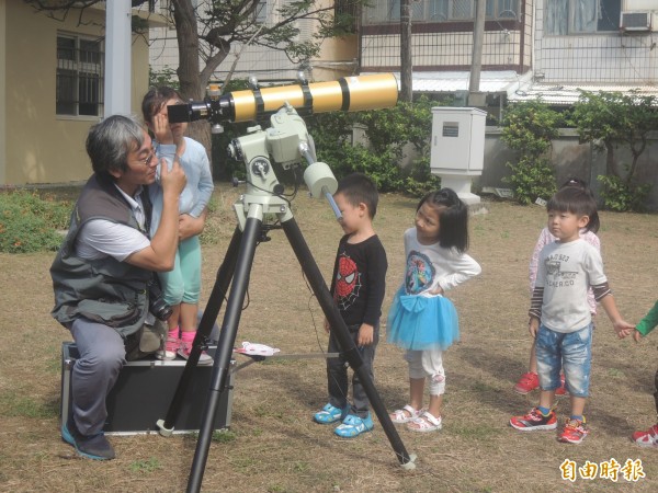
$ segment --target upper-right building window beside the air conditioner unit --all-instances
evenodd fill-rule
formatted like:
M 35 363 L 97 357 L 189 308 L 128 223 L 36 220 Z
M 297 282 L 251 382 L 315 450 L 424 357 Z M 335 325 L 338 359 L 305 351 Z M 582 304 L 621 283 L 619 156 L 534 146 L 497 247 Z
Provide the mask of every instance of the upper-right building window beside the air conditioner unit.
M 546 0 L 546 34 L 619 31 L 621 10 L 622 0 Z

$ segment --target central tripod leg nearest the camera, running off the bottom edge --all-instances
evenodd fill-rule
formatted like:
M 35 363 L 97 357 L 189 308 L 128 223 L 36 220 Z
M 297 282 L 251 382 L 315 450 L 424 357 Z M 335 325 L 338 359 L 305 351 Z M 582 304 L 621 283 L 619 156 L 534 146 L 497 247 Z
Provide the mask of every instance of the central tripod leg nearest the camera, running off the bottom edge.
M 245 296 L 249 287 L 249 275 L 253 263 L 253 255 L 261 236 L 262 217 L 262 206 L 252 204 L 249 207 L 249 215 L 245 225 L 245 232 L 242 233 L 230 294 L 226 302 L 226 312 L 224 313 L 224 322 L 222 323 L 222 332 L 219 333 L 219 342 L 217 343 L 217 352 L 215 353 L 211 385 L 198 431 L 198 440 L 196 442 L 190 479 L 188 481 L 188 492 L 198 492 L 201 490 L 211 440 L 213 438 L 215 413 L 222 392 L 226 389 L 232 348 L 242 313 L 242 303 L 245 302 Z

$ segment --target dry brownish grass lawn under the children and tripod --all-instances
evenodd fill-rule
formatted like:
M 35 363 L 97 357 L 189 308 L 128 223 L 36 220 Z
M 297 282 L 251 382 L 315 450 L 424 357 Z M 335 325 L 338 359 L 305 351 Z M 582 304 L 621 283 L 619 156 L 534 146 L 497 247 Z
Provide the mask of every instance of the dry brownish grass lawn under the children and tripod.
M 325 202 L 302 195 L 293 203 L 295 217 L 327 279 L 341 231 Z M 236 192 L 219 185 L 215 197 L 218 209 L 208 231 L 218 242 L 204 246 L 206 297 L 235 228 L 230 206 Z M 381 199 L 375 227 L 389 261 L 384 313 L 401 282 L 401 236 L 412 223 L 415 206 L 415 199 L 399 195 Z M 658 448 L 638 448 L 629 436 L 655 423 L 658 331 L 640 344 L 620 342 L 600 313 L 586 410 L 591 435 L 580 446 L 558 443 L 552 432 L 521 434 L 509 427 L 509 417 L 526 412 L 537 398 L 536 392 L 514 393 L 512 386 L 527 363 L 527 263 L 545 211 L 501 202 L 488 207 L 489 214 L 473 216 L 470 222 L 470 254 L 483 274 L 451 294 L 462 341 L 446 353 L 444 428 L 432 434 L 398 428 L 407 450 L 418 456 L 415 471 L 398 466 L 377 422 L 373 433 L 352 440 L 311 422 L 327 399 L 321 359 L 276 359 L 237 374 L 230 432 L 211 446 L 203 491 L 657 491 Z M 602 213 L 601 223 L 617 306 L 626 320 L 637 322 L 658 299 L 658 216 Z M 236 342 L 260 342 L 286 353 L 325 351 L 318 303 L 284 233 L 271 237 L 257 250 Z M 117 459 L 110 462 L 80 459 L 61 442 L 59 348 L 70 335 L 49 316 L 53 256 L 0 254 L 0 491 L 184 491 L 194 436 L 114 436 Z M 402 352 L 382 342 L 375 369 L 386 406 L 405 404 Z M 567 412 L 568 398 L 563 398 L 558 413 Z M 601 477 L 570 482 L 560 475 L 566 459 L 577 467 L 612 459 L 624 466 L 629 459 L 642 463 L 646 477 L 628 481 L 620 471 L 616 482 Z

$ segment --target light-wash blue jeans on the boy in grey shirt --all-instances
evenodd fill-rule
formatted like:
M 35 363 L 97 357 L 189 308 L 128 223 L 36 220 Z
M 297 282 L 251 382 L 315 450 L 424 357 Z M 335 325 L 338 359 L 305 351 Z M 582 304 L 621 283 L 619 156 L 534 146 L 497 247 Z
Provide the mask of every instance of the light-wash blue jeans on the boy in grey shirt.
M 567 390 L 574 397 L 589 395 L 592 360 L 592 324 L 576 332 L 555 332 L 540 325 L 536 339 L 537 374 L 542 390 L 560 386 L 559 370 L 564 369 Z

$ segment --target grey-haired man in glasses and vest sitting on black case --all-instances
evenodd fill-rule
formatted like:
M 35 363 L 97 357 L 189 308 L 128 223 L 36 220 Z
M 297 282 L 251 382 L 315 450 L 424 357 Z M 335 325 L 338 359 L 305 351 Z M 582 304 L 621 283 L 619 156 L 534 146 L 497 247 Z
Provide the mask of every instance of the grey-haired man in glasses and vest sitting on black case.
M 87 137 L 93 175 L 76 204 L 69 232 L 50 267 L 53 317 L 70 330 L 80 357 L 71 375 L 72 416 L 61 437 L 90 459 L 114 458 L 103 435 L 105 398 L 138 354 L 154 272 L 170 271 L 179 241 L 179 196 L 185 175 L 158 162 L 151 139 L 133 117 L 114 115 Z M 163 161 L 162 161 L 163 162 Z M 160 167 L 163 210 L 149 238 L 148 186 Z M 203 220 L 190 233 L 203 229 Z M 147 349 L 148 351 L 148 349 Z

